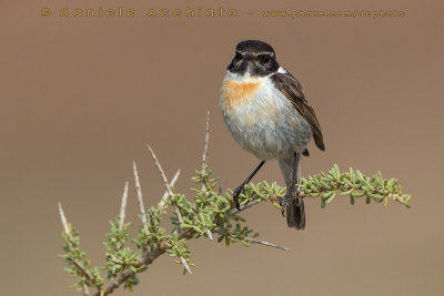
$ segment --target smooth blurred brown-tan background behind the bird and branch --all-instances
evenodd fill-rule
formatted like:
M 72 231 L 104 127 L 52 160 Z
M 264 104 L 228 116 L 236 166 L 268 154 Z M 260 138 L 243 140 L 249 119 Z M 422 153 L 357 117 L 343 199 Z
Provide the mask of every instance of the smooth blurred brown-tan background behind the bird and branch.
M 150 9 L 236 9 L 236 18 L 148 18 Z M 60 18 L 58 10 L 134 9 L 129 18 Z M 42 18 L 40 10 L 53 14 Z M 94 264 L 104 264 L 108 221 L 132 161 L 148 204 L 163 187 L 145 147 L 176 188 L 191 195 L 211 111 L 210 167 L 234 187 L 258 160 L 232 140 L 219 90 L 235 44 L 270 42 L 305 88 L 326 152 L 311 145 L 303 175 L 333 163 L 398 177 L 413 195 L 321 210 L 306 201 L 307 227 L 289 229 L 268 204 L 243 215 L 274 248 L 191 242 L 192 276 L 162 256 L 133 295 L 443 295 L 443 6 L 438 1 L 1 1 L 0 283 L 2 295 L 79 295 L 62 268 L 61 202 Z M 404 18 L 262 18 L 261 10 L 403 10 Z M 251 10 L 255 14 L 248 16 Z M 276 162 L 254 178 L 283 183 Z M 113 295 L 129 295 L 122 289 Z

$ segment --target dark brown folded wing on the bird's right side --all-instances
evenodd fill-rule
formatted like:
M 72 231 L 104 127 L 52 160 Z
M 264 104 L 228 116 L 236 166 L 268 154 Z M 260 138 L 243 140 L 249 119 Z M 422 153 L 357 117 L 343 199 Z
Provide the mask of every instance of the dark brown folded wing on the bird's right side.
M 313 108 L 309 105 L 302 93 L 302 85 L 299 81 L 289 72 L 285 73 L 274 73 L 271 76 L 278 90 L 280 90 L 296 108 L 299 113 L 309 122 L 312 127 L 313 139 L 316 146 L 324 151 L 324 141 L 321 133 L 321 125 L 314 114 Z

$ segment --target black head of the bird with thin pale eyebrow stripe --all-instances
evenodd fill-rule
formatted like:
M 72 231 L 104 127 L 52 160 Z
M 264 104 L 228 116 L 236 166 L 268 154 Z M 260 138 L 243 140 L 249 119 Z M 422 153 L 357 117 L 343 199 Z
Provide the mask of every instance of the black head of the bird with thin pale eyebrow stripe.
M 249 72 L 253 76 L 265 76 L 276 72 L 279 63 L 273 48 L 263 41 L 245 40 L 239 42 L 235 55 L 228 70 L 232 73 L 244 74 Z

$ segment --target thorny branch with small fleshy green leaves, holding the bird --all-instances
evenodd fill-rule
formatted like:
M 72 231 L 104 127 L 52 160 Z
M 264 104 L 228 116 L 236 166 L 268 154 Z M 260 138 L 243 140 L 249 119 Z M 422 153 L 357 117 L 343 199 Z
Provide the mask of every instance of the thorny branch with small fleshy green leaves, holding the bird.
M 189 251 L 185 249 L 181 251 L 180 247 L 184 247 L 188 239 L 198 238 L 205 234 L 210 239 L 212 239 L 212 234 L 219 234 L 219 242 L 221 238 L 225 238 L 225 244 L 229 245 L 231 242 L 241 241 L 245 245 L 252 244 L 260 244 L 269 247 L 274 247 L 283 251 L 290 251 L 286 247 L 280 246 L 274 243 L 270 243 L 266 241 L 255 238 L 258 233 L 253 236 L 250 236 L 252 229 L 249 229 L 246 226 L 241 227 L 240 224 L 236 224 L 235 229 L 231 228 L 230 226 L 221 226 L 221 225 L 229 225 L 230 220 L 239 221 L 239 210 L 235 205 L 231 202 L 230 194 L 226 194 L 228 198 L 220 195 L 219 193 L 214 192 L 214 184 L 215 180 L 210 178 L 211 172 L 208 170 L 208 151 L 209 151 L 209 140 L 210 140 L 210 112 L 208 113 L 206 118 L 206 125 L 205 125 L 205 141 L 204 141 L 204 151 L 202 155 L 202 170 L 198 173 L 198 177 L 194 177 L 194 182 L 201 183 L 201 191 L 196 191 L 196 204 L 190 205 L 190 207 L 184 206 L 183 204 L 179 206 L 176 196 L 173 193 L 172 186 L 176 182 L 180 170 L 175 173 L 171 182 L 169 183 L 164 171 L 155 156 L 153 150 L 150 145 L 148 149 L 151 152 L 153 162 L 159 171 L 163 185 L 165 187 L 165 193 L 163 194 L 162 198 L 158 204 L 158 208 L 151 207 L 148 210 L 148 214 L 145 212 L 143 205 L 143 196 L 142 190 L 139 180 L 139 173 L 137 170 L 135 162 L 133 162 L 133 173 L 134 173 L 134 182 L 137 188 L 137 195 L 141 212 L 141 218 L 143 224 L 143 229 L 145 234 L 142 236 L 144 243 L 142 243 L 141 255 L 135 256 L 135 253 L 131 253 L 130 248 L 123 248 L 123 243 L 127 242 L 127 237 L 129 234 L 125 234 L 125 229 L 129 224 L 124 223 L 125 220 L 125 208 L 127 208 L 127 201 L 128 201 L 128 182 L 125 182 L 125 186 L 123 190 L 122 202 L 120 207 L 120 215 L 117 218 L 118 223 L 112 225 L 118 225 L 117 231 L 112 233 L 110 236 L 112 242 L 120 242 L 121 244 L 118 249 L 119 256 L 107 256 L 108 262 L 113 264 L 112 274 L 109 277 L 110 280 L 108 285 L 103 284 L 100 275 L 98 275 L 98 268 L 89 269 L 89 262 L 84 259 L 84 253 L 75 249 L 78 253 L 69 253 L 70 244 L 74 242 L 75 246 L 79 243 L 79 236 L 75 231 L 71 228 L 71 225 L 68 223 L 61 204 L 59 203 L 59 214 L 63 225 L 64 237 L 68 237 L 69 244 L 67 246 L 67 254 L 80 254 L 77 258 L 80 258 L 81 262 L 75 259 L 73 256 L 68 256 L 67 258 L 72 263 L 72 265 L 79 271 L 80 275 L 84 277 L 83 280 L 80 282 L 81 287 L 83 289 L 84 295 L 89 295 L 88 287 L 95 286 L 98 292 L 95 296 L 104 296 L 111 294 L 115 288 L 120 287 L 124 284 L 129 285 L 131 288 L 132 279 L 134 279 L 135 275 L 144 269 L 147 266 L 152 264 L 159 256 L 163 255 L 164 253 L 169 253 L 169 255 L 176 256 L 179 259 L 176 263 L 182 264 L 184 269 L 191 274 L 190 265 L 190 254 L 186 253 Z M 350 195 L 351 203 L 354 203 L 354 198 L 365 196 L 366 202 L 370 203 L 371 200 L 374 202 L 382 202 L 386 204 L 387 200 L 396 201 L 405 206 L 410 206 L 408 202 L 411 196 L 402 194 L 401 186 L 396 185 L 397 180 L 384 180 L 382 178 L 381 174 L 376 174 L 373 177 L 364 176 L 360 171 L 353 171 L 352 169 L 350 172 L 340 173 L 339 167 L 335 165 L 329 174 L 321 173 L 319 175 L 309 176 L 307 178 L 301 178 L 299 182 L 299 187 L 296 191 L 297 196 L 300 197 L 321 197 L 321 206 L 324 206 L 325 203 L 330 203 L 333 201 L 336 192 L 340 192 L 341 195 Z M 258 184 L 248 184 L 245 186 L 245 194 L 241 195 L 241 210 L 250 208 L 260 202 L 271 202 L 276 207 L 279 205 L 276 202 L 282 197 L 282 192 L 284 188 L 279 187 L 275 183 L 269 185 L 266 182 L 258 183 Z M 216 198 L 214 204 L 211 204 L 209 201 L 213 201 L 212 198 Z M 214 201 L 213 201 L 214 202 Z M 186 204 L 186 203 L 185 203 Z M 198 207 L 199 206 L 201 207 Z M 173 232 L 173 235 L 165 236 L 161 228 L 160 223 L 160 214 L 163 210 L 168 208 L 168 206 L 172 205 L 174 208 L 174 213 L 176 216 L 176 226 L 178 231 Z M 213 216 L 209 216 L 208 208 L 213 206 L 214 213 Z M 181 213 L 181 210 L 183 211 Z M 157 212 L 161 211 L 161 212 Z M 191 212 L 190 212 L 191 211 Z M 192 211 L 195 211 L 193 214 Z M 157 214 L 158 213 L 158 214 Z M 215 224 L 216 220 L 220 220 L 219 213 L 225 215 L 226 221 L 222 224 Z M 183 214 L 183 215 L 182 215 Z M 199 215 L 198 215 L 199 214 Z M 158 216 L 155 216 L 158 215 Z M 150 218 L 150 222 L 147 221 L 147 216 Z M 214 221 L 212 221 L 214 220 Z M 149 225 L 151 227 L 151 233 L 149 229 Z M 202 226 L 202 228 L 200 228 Z M 128 235 L 128 236 L 127 236 Z M 75 237 L 74 237 L 75 236 Z M 154 237 L 154 238 L 153 238 Z M 159 238 L 159 237 L 169 237 L 169 238 Z M 148 239 L 148 241 L 147 241 Z M 154 241 L 150 241 L 154 239 Z M 72 242 L 71 242 L 72 241 Z M 151 242 L 151 243 L 150 243 Z M 171 248 L 178 247 L 174 253 Z M 127 253 L 125 253 L 127 252 Z M 173 254 L 171 253 L 173 252 Z M 133 257 L 135 256 L 135 257 Z

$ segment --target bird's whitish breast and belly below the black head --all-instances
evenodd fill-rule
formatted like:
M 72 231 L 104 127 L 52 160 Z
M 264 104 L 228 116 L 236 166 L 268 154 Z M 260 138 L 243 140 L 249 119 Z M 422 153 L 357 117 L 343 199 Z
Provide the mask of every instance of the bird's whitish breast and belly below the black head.
M 228 82 L 252 83 L 251 92 L 238 92 L 233 99 Z M 293 104 L 274 88 L 270 78 L 236 80 L 228 73 L 220 98 L 223 119 L 234 140 L 260 160 L 283 159 L 302 153 L 312 132 Z

